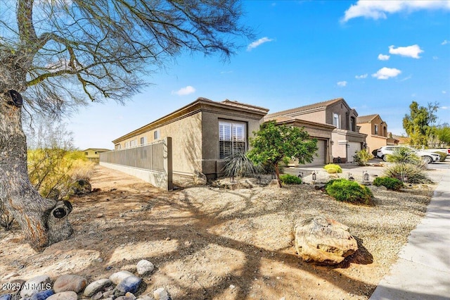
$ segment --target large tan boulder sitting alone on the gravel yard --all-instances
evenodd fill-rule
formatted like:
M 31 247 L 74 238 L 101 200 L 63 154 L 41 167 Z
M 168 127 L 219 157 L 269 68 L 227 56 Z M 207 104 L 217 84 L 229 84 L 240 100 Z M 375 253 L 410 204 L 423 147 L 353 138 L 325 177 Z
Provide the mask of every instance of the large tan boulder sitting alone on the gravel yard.
M 302 220 L 294 232 L 295 249 L 304 261 L 335 265 L 358 250 L 349 227 L 324 215 Z

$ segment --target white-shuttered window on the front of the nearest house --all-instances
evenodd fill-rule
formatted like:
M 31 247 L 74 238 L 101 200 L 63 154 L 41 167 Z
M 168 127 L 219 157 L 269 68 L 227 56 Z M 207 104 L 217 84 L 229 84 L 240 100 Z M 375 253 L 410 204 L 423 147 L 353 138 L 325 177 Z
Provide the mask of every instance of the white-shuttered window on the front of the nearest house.
M 226 158 L 237 151 L 245 151 L 245 123 L 219 121 L 219 158 Z

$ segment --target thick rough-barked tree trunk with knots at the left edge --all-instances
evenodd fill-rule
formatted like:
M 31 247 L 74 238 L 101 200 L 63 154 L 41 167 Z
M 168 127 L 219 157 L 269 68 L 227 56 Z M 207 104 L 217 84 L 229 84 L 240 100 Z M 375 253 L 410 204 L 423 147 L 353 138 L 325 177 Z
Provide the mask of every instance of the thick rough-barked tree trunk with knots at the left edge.
M 22 128 L 21 103 L 0 91 L 0 201 L 18 221 L 27 242 L 41 250 L 72 233 L 68 201 L 42 198 L 27 173 L 27 142 Z

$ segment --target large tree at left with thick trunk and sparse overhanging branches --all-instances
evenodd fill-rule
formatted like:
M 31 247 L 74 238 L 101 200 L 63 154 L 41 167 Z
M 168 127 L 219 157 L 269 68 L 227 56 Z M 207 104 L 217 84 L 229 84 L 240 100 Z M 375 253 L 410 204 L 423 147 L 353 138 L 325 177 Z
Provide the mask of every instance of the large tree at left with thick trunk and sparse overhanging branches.
M 70 236 L 72 206 L 30 182 L 22 108 L 123 103 L 178 54 L 229 58 L 251 36 L 239 0 L 2 0 L 0 12 L 0 201 L 34 249 Z

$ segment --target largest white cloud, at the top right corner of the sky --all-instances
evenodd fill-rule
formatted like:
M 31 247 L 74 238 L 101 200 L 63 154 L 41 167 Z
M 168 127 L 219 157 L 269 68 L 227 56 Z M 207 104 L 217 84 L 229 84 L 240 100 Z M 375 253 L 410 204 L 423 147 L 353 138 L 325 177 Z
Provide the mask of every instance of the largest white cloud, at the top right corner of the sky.
M 429 1 L 429 0 L 359 0 L 345 11 L 342 22 L 347 22 L 352 18 L 372 18 L 373 20 L 387 18 L 387 13 L 399 13 L 412 11 L 444 9 L 450 10 L 450 1 Z

